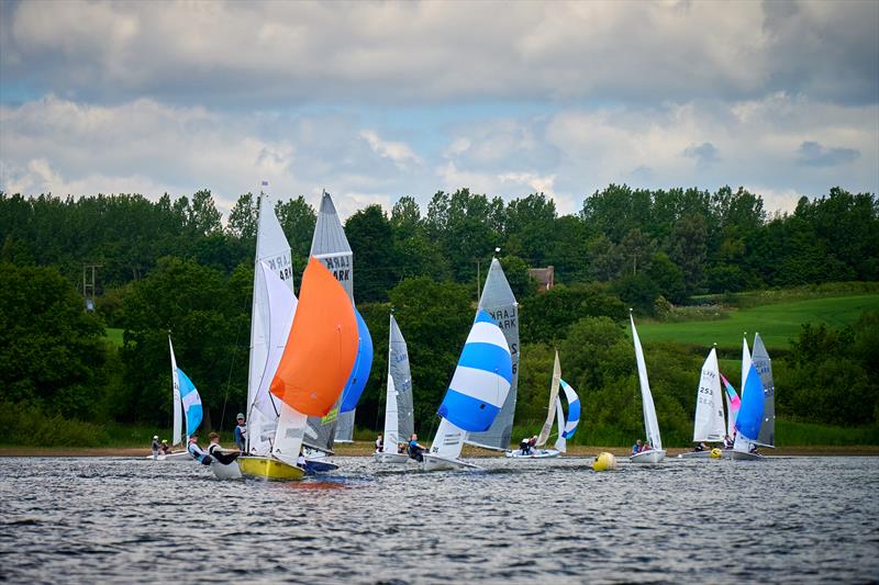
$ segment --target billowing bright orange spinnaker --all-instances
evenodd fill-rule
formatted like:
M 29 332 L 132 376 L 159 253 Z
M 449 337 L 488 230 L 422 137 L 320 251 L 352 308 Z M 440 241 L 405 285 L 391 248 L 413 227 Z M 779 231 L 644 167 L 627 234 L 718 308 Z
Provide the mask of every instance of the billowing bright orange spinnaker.
M 270 392 L 291 408 L 324 416 L 338 400 L 357 358 L 357 318 L 345 289 L 312 257 Z

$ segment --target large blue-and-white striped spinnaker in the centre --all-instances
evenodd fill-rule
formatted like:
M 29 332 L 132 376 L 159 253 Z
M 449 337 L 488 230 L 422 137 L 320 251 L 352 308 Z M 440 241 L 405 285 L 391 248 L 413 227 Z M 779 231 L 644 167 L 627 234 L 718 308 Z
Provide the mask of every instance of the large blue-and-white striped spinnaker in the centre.
M 480 310 L 439 405 L 439 416 L 469 432 L 487 430 L 503 406 L 512 380 L 513 362 L 503 331 Z

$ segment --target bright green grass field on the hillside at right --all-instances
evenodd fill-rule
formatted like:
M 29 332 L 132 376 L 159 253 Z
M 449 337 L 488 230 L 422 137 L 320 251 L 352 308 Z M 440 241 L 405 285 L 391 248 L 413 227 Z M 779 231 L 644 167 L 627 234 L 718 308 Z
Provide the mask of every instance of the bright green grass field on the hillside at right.
M 726 318 L 683 323 L 644 322 L 638 336 L 644 345 L 650 341 L 678 341 L 705 348 L 712 344 L 723 348 L 742 346 L 742 334 L 759 333 L 768 348 L 786 349 L 800 333 L 803 323 L 826 323 L 838 329 L 858 319 L 865 311 L 879 311 L 879 294 L 859 294 L 775 303 L 732 311 Z

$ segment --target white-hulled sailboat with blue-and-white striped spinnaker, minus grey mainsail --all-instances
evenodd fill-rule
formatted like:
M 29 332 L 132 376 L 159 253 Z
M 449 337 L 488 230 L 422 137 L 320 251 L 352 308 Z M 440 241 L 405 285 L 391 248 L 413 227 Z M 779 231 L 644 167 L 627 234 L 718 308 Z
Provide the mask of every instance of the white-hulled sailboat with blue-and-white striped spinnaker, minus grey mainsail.
M 476 314 L 455 374 L 439 404 L 439 428 L 424 453 L 424 470 L 476 468 L 460 460 L 468 432 L 488 430 L 503 408 L 513 383 L 510 347 L 497 322 L 485 311 Z

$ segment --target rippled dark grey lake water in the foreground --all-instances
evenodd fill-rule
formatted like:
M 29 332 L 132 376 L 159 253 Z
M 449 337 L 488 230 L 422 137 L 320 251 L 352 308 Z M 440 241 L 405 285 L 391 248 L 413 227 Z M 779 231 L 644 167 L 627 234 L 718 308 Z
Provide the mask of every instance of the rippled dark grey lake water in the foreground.
M 879 458 L 472 460 L 219 482 L 194 463 L 0 459 L 0 580 L 868 582 Z

